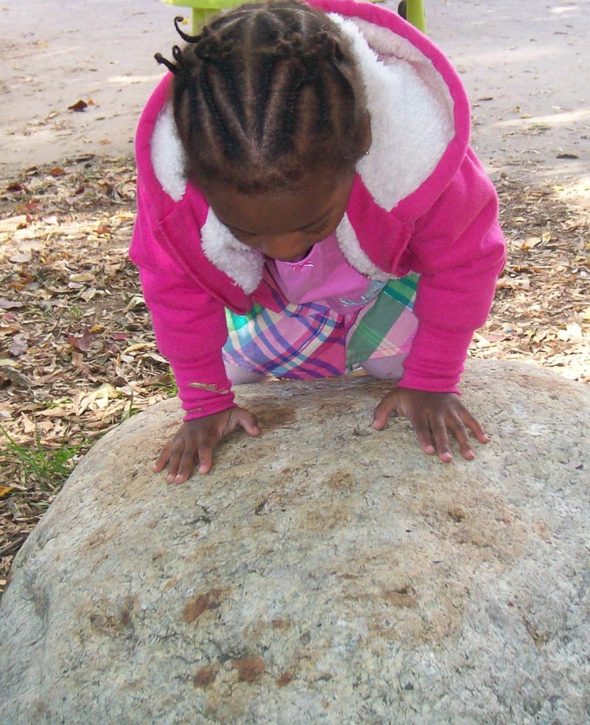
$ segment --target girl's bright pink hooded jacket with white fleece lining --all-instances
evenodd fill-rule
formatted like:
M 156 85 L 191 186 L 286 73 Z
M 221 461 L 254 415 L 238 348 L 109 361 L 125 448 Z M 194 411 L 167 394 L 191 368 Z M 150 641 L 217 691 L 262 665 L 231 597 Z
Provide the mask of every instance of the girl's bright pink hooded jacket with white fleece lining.
M 399 385 L 458 392 L 473 331 L 504 264 L 497 197 L 469 148 L 470 109 L 449 61 L 397 14 L 313 0 L 352 41 L 373 141 L 360 159 L 336 238 L 370 278 L 420 274 L 417 332 Z M 136 137 L 138 265 L 157 343 L 173 367 L 185 420 L 234 405 L 221 349 L 224 307 L 276 309 L 262 254 L 241 244 L 186 181 L 167 74 Z

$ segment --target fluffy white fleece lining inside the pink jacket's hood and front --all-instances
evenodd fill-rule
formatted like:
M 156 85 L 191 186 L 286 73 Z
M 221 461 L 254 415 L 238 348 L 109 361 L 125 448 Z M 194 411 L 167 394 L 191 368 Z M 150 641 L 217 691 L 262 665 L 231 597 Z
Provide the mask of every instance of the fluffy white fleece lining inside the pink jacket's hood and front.
M 352 41 L 367 92 L 372 141 L 357 171 L 375 203 L 390 211 L 431 175 L 444 154 L 454 133 L 453 101 L 444 78 L 412 43 L 365 20 L 333 13 L 330 17 Z M 186 191 L 185 157 L 170 101 L 154 125 L 151 163 L 164 191 L 180 201 Z M 363 252 L 346 214 L 336 238 L 352 267 L 373 279 L 389 278 Z M 264 257 L 236 239 L 211 209 L 201 229 L 201 244 L 207 259 L 246 294 L 257 288 Z

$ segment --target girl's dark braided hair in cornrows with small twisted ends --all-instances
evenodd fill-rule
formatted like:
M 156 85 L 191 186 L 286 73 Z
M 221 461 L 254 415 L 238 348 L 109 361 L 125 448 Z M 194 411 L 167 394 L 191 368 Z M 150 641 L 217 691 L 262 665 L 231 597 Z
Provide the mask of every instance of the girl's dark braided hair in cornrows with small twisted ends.
M 175 26 L 175 122 L 191 181 L 246 194 L 297 186 L 318 166 L 352 170 L 367 128 L 365 91 L 349 41 L 298 0 L 246 4 L 197 36 Z

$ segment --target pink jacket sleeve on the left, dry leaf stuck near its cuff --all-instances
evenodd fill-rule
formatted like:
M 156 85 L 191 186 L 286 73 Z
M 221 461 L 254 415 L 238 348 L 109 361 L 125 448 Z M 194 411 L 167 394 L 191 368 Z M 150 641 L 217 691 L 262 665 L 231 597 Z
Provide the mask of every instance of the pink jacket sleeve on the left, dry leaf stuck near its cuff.
M 170 360 L 184 421 L 232 407 L 221 349 L 228 336 L 222 303 L 159 244 L 138 193 L 130 257 L 138 265 L 158 349 Z

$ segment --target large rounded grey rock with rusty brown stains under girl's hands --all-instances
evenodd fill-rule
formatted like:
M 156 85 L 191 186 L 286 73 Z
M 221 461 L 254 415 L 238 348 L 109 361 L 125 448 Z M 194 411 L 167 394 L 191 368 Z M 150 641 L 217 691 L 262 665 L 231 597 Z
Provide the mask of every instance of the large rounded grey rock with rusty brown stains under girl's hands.
M 248 386 L 259 439 L 150 473 L 175 401 L 78 466 L 1 607 L 2 725 L 590 721 L 590 390 L 472 363 L 468 463 L 381 433 L 386 384 Z

